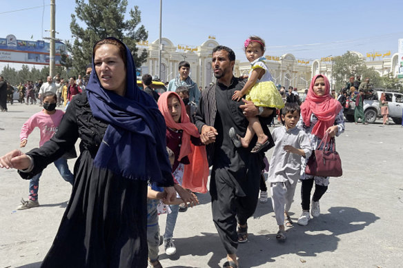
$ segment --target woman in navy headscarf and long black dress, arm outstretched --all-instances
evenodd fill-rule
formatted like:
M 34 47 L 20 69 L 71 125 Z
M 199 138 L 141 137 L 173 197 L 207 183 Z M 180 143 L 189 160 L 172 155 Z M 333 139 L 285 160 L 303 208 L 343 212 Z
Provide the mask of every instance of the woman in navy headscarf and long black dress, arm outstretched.
M 124 43 L 98 41 L 92 56 L 86 92 L 72 99 L 55 136 L 6 154 L 0 167 L 30 178 L 81 138 L 72 195 L 41 267 L 146 267 L 147 181 L 175 198 L 164 117 L 137 87 Z

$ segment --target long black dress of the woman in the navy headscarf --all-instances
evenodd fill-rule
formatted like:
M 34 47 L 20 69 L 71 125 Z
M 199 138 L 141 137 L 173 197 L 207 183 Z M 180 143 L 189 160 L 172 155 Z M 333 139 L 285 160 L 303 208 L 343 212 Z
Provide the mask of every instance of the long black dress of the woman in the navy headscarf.
M 34 159 L 34 169 L 20 174 L 30 178 L 81 138 L 72 195 L 41 267 L 147 266 L 147 182 L 94 166 L 106 127 L 92 115 L 86 94 L 79 94 L 70 102 L 57 134 L 27 153 Z M 173 186 L 172 176 L 160 186 Z

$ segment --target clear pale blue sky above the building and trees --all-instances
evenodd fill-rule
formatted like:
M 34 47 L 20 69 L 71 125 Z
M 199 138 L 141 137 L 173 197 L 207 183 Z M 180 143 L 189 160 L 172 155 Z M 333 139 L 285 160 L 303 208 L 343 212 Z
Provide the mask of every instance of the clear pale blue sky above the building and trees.
M 48 36 L 44 30 L 50 28 L 50 0 L 1 2 L 0 37 L 14 34 L 17 39 L 30 40 L 33 35 L 37 40 Z M 128 10 L 139 6 L 148 41 L 158 39 L 159 0 L 128 3 Z M 59 39 L 72 39 L 70 14 L 74 8 L 75 0 L 56 0 Z M 291 53 L 306 60 L 337 56 L 347 50 L 364 55 L 390 50 L 393 54 L 397 52 L 397 39 L 403 38 L 402 0 L 163 0 L 162 16 L 162 36 L 175 45 L 197 46 L 214 35 L 217 42 L 233 48 L 241 61 L 246 61 L 242 46 L 250 34 L 266 41 L 266 55 Z M 18 64 L 11 66 L 19 68 Z

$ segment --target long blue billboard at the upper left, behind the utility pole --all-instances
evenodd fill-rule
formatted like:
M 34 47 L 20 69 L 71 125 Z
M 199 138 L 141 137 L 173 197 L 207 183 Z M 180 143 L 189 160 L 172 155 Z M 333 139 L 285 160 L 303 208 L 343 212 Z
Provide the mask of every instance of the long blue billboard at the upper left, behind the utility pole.
M 67 51 L 66 45 L 55 42 L 55 65 L 60 66 L 61 54 Z M 50 61 L 50 43 L 43 40 L 18 40 L 13 34 L 0 38 L 0 61 L 48 65 Z

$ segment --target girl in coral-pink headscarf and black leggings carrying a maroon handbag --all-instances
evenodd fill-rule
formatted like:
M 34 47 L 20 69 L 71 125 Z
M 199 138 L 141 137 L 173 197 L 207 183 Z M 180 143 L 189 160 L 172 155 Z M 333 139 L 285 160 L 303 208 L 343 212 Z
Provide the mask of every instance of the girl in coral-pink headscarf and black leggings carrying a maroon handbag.
M 298 122 L 298 126 L 302 127 L 311 139 L 312 150 L 317 149 L 326 132 L 330 137 L 339 136 L 344 132 L 342 108 L 342 105 L 331 96 L 327 77 L 323 74 L 313 77 L 306 99 L 301 105 L 301 117 Z M 319 200 L 326 192 L 329 184 L 328 177 L 305 174 L 307 162 L 308 159 L 302 161 L 301 166 L 302 215 L 298 219 L 299 225 L 307 225 L 308 221 L 311 220 L 311 216 L 309 216 L 310 205 L 311 215 L 313 217 L 320 215 Z M 311 190 L 314 182 L 315 192 L 311 204 Z

